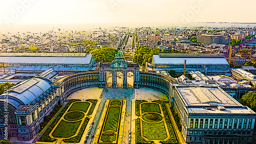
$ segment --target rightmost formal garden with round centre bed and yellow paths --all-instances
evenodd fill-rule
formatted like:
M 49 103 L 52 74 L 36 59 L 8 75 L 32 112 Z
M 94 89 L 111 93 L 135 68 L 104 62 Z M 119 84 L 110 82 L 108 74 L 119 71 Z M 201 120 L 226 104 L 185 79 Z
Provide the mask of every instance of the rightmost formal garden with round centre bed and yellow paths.
M 163 101 L 135 101 L 136 143 L 178 143 L 169 113 Z

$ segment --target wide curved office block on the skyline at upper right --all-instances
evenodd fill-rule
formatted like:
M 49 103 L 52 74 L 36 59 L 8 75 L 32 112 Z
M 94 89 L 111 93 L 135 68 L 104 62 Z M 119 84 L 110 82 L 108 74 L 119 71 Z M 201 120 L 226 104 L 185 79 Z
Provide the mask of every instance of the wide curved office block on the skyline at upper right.
M 224 35 L 201 35 L 197 37 L 198 43 L 203 43 L 205 45 L 210 45 L 212 43 L 217 44 L 229 44 L 230 43 L 230 37 L 224 36 Z

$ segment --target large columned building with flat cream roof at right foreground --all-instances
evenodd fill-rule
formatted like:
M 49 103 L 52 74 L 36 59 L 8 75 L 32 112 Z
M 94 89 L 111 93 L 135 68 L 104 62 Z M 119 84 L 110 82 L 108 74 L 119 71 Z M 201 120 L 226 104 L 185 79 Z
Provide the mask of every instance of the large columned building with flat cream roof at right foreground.
M 217 86 L 175 86 L 174 108 L 187 143 L 252 143 L 256 113 Z

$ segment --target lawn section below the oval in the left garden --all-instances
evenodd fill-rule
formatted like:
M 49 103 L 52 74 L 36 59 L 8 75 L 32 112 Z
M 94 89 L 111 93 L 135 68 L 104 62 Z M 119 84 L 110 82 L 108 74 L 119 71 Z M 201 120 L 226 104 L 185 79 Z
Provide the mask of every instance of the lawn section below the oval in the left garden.
M 61 120 L 57 128 L 52 133 L 54 137 L 70 137 L 75 135 L 81 121 L 79 122 L 65 122 Z

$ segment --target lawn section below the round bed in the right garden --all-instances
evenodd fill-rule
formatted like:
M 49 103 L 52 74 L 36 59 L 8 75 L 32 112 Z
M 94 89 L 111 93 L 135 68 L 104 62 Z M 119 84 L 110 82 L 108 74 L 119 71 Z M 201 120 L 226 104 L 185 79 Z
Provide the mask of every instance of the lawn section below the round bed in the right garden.
M 143 136 L 147 139 L 165 139 L 167 137 L 164 122 L 151 124 L 142 122 Z

